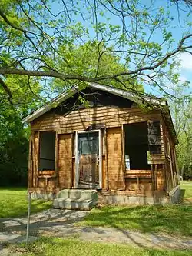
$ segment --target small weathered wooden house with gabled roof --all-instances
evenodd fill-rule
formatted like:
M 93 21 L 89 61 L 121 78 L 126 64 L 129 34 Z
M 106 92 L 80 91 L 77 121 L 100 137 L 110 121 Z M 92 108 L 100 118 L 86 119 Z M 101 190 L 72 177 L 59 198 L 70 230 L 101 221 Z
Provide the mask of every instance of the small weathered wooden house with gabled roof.
M 178 141 L 167 101 L 92 83 L 23 121 L 31 125 L 33 198 L 82 188 L 96 189 L 103 203 L 177 201 Z

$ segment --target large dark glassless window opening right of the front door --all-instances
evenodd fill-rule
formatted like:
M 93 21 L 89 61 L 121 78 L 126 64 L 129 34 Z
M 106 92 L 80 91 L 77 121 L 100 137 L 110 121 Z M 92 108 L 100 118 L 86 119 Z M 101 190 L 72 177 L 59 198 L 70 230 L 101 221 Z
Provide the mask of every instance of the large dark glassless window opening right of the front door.
M 124 125 L 127 170 L 150 170 L 151 155 L 161 154 L 159 121 Z

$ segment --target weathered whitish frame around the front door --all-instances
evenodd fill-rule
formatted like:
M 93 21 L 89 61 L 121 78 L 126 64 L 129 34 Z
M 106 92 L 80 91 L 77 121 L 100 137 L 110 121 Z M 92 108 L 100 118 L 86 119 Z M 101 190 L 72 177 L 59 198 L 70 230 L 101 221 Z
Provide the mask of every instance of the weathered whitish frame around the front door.
M 98 132 L 98 147 L 99 147 L 99 186 L 98 189 L 102 188 L 102 141 L 101 141 L 101 129 L 91 130 L 91 131 L 76 131 L 75 133 L 75 178 L 74 178 L 74 188 L 78 188 L 79 180 L 79 151 L 78 151 L 78 135 L 83 133 Z

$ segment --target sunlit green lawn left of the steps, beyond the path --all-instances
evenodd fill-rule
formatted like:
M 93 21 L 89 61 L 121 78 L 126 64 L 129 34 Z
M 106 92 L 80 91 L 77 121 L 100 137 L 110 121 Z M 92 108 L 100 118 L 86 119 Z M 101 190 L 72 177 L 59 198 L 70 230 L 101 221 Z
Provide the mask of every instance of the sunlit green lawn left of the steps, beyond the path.
M 50 208 L 51 201 L 31 201 L 31 213 Z M 0 218 L 18 218 L 28 212 L 26 188 L 0 188 Z

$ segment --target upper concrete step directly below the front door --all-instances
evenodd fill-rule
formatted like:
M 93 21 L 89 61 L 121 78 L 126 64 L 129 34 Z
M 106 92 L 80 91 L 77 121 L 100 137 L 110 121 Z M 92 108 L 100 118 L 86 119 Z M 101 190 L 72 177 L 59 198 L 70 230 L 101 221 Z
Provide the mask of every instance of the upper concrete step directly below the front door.
M 98 201 L 98 192 L 94 189 L 63 189 L 58 192 L 57 198 L 73 198 Z

